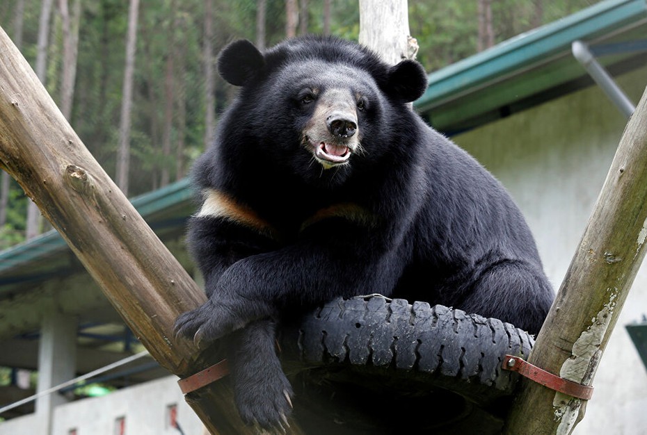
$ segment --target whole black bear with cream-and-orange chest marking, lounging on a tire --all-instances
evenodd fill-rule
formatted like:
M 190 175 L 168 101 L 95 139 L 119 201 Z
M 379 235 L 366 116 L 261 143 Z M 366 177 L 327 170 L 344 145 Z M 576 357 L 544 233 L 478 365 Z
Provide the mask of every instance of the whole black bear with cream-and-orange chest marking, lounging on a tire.
M 264 53 L 233 42 L 218 72 L 241 90 L 192 172 L 202 207 L 188 243 L 209 300 L 175 329 L 198 343 L 240 330 L 243 420 L 285 420 L 275 322 L 335 297 L 381 293 L 539 331 L 553 291 L 532 234 L 502 185 L 408 106 L 426 90 L 419 63 L 307 36 Z

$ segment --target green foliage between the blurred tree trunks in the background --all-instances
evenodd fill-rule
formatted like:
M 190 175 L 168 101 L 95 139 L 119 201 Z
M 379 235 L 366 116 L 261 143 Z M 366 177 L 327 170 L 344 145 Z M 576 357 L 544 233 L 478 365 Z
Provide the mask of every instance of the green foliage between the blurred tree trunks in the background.
M 76 0 L 68 0 L 70 10 Z M 0 1 L 0 26 L 15 38 L 17 0 Z M 57 3 L 57 2 L 55 2 Z M 236 38 L 256 40 L 257 1 L 213 0 L 216 54 Z M 596 3 L 593 0 L 498 0 L 492 2 L 496 42 L 529 31 Z M 40 18 L 40 1 L 25 0 L 21 51 L 34 66 Z M 420 45 L 418 60 L 428 71 L 444 67 L 476 52 L 477 0 L 408 0 L 411 34 Z M 541 6 L 541 17 L 536 5 Z M 83 143 L 108 174 L 115 174 L 122 86 L 125 67 L 125 35 L 128 0 L 81 0 L 77 75 L 70 123 Z M 308 31 L 324 29 L 324 2 L 308 2 Z M 182 161 L 186 172 L 204 149 L 205 136 L 205 1 L 146 0 L 141 2 L 136 47 L 134 101 L 131 119 L 130 194 L 160 187 L 165 168 L 170 179 L 177 170 L 176 147 L 184 144 Z M 267 0 L 266 46 L 285 37 L 285 1 Z M 331 33 L 357 40 L 357 0 L 335 0 L 330 8 Z M 162 153 L 166 127 L 166 60 L 173 56 L 173 117 L 170 124 L 172 150 Z M 63 30 L 54 8 L 49 38 L 47 90 L 60 101 L 63 67 Z M 216 117 L 236 90 L 216 76 Z M 184 122 L 179 115 L 184 110 Z M 24 238 L 27 199 L 12 183 L 8 218 L 0 228 L 0 249 Z

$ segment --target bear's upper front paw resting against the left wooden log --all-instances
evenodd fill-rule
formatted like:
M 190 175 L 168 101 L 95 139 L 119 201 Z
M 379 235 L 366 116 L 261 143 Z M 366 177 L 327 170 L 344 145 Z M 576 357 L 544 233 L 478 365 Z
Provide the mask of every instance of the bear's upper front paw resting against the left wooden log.
M 179 315 L 175 320 L 175 338 L 193 338 L 198 347 L 213 343 L 225 334 L 245 326 L 246 322 L 237 318 L 225 304 L 211 302 L 209 299 L 197 309 Z

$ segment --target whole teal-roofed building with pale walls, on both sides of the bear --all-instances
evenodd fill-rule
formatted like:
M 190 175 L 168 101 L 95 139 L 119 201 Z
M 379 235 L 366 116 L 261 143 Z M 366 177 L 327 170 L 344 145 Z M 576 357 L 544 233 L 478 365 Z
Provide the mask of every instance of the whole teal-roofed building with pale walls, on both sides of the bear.
M 415 103 L 432 126 L 467 149 L 510 190 L 556 289 L 627 123 L 626 106 L 616 105 L 622 97 L 610 99 L 591 79 L 573 56 L 573 42 L 583 42 L 626 98 L 637 104 L 647 85 L 646 35 L 646 0 L 602 1 L 433 72 L 429 89 Z M 133 203 L 193 272 L 182 241 L 184 221 L 193 213 L 186 181 Z M 642 268 L 575 434 L 647 434 L 647 371 L 625 328 L 647 314 L 646 287 L 647 269 Z M 56 233 L 0 252 L 0 342 L 0 366 L 38 369 L 38 391 L 141 350 Z M 43 395 L 33 414 L 33 403 L 7 411 L 1 416 L 16 418 L 0 423 L 0 435 L 101 435 L 124 428 L 125 433 L 175 434 L 177 429 L 169 424 L 173 416 L 186 434 L 202 431 L 175 377 L 150 358 L 109 372 L 104 384 L 120 391 L 69 403 L 58 393 Z M 33 393 L 0 387 L 0 403 Z

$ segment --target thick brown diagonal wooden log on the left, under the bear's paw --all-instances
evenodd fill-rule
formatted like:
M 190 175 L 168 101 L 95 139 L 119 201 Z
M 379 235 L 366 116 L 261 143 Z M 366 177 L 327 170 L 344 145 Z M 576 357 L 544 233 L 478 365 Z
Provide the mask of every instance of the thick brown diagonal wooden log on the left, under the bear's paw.
M 179 377 L 221 359 L 174 340 L 179 313 L 205 295 L 83 145 L 0 28 L 0 167 L 61 233 L 127 325 L 161 366 Z M 178 387 L 179 388 L 179 387 Z M 253 434 L 227 378 L 186 395 L 213 434 Z M 299 434 L 290 420 L 288 433 Z

